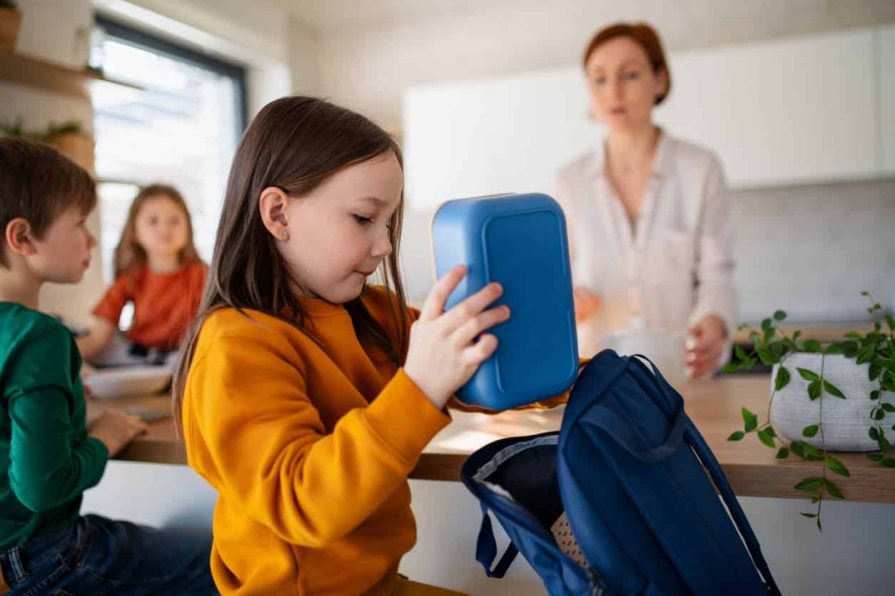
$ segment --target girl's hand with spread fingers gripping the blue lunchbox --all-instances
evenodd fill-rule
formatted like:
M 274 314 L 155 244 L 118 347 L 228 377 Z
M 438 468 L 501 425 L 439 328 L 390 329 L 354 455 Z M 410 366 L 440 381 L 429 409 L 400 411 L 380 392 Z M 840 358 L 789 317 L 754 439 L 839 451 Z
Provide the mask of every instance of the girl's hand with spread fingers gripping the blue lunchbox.
M 465 274 L 465 266 L 457 265 L 437 281 L 410 326 L 405 374 L 439 409 L 497 349 L 498 339 L 482 332 L 509 318 L 508 306 L 486 310 L 503 293 L 498 283 L 444 312 L 447 297 Z

